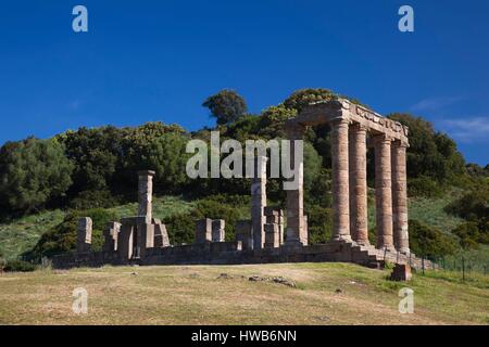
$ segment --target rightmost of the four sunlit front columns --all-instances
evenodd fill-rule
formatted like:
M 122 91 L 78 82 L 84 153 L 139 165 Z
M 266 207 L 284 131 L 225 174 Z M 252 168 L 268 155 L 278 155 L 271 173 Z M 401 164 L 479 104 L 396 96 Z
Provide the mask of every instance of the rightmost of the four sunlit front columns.
M 396 248 L 410 253 L 408 232 L 408 178 L 406 151 L 408 144 L 401 141 L 392 143 L 392 213 L 393 240 Z

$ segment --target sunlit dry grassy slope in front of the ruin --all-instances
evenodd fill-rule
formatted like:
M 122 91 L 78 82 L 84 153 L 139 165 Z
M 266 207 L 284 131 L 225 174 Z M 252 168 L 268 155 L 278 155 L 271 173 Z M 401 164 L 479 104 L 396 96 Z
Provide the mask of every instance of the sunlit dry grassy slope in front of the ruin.
M 217 279 L 221 273 L 234 275 Z M 251 282 L 281 275 L 298 287 Z M 386 280 L 388 271 L 351 264 L 104 267 L 0 275 L 0 324 L 487 324 L 489 278 L 450 273 Z M 439 278 L 444 277 L 444 278 Z M 72 312 L 72 292 L 88 291 L 88 314 Z M 414 313 L 398 311 L 401 287 Z M 341 290 L 337 293 L 337 290 Z

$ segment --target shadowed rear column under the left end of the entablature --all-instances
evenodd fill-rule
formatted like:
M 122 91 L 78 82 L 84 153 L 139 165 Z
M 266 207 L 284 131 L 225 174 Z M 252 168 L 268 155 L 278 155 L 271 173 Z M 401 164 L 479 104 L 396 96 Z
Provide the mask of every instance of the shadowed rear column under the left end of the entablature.
M 300 125 L 289 126 L 287 127 L 287 134 L 290 140 L 290 168 L 293 168 L 296 172 L 292 180 L 297 181 L 297 184 L 296 189 L 287 190 L 287 239 L 285 246 L 305 246 L 309 237 L 304 224 L 304 163 L 296 158 L 296 150 L 303 149 L 303 144 L 296 141 L 303 141 L 304 127 Z M 302 154 L 300 153 L 300 158 L 303 158 Z

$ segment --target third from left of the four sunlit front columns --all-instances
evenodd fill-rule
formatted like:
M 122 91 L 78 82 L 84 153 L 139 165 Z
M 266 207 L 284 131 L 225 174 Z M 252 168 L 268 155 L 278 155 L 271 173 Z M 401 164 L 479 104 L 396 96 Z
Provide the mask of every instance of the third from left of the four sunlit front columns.
M 375 137 L 375 206 L 377 221 L 377 247 L 393 250 L 391 139 L 385 134 Z

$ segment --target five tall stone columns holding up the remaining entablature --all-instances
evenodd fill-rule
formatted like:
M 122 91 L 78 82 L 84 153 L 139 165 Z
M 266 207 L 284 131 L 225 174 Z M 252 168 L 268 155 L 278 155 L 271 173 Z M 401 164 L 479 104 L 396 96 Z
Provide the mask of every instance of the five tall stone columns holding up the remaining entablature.
M 304 127 L 287 129 L 291 140 L 291 166 L 299 167 L 299 187 L 287 191 L 287 242 L 308 245 L 303 215 L 303 163 L 294 163 L 294 140 L 302 140 Z M 333 241 L 355 241 L 368 245 L 367 224 L 367 128 L 339 117 L 331 121 Z M 409 253 L 406 144 L 385 134 L 373 137 L 375 149 L 375 200 L 377 247 Z

